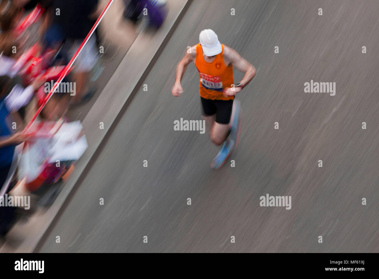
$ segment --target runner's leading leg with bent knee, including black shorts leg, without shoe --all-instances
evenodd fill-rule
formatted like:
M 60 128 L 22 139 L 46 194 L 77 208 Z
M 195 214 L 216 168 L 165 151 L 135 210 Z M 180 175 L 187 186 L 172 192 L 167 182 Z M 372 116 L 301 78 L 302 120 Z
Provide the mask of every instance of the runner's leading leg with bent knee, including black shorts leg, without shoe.
M 215 145 L 221 145 L 229 136 L 233 100 L 215 100 L 215 106 L 216 120 L 211 130 L 211 141 Z

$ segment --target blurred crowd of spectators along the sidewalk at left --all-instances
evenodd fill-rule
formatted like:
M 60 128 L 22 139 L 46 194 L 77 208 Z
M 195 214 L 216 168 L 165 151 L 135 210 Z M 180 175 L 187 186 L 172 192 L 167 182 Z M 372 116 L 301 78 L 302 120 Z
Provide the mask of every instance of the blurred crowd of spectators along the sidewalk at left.
M 149 26 L 159 28 L 165 3 L 124 0 L 123 17 L 137 24 L 148 9 Z M 96 24 L 105 6 L 101 4 L 0 0 L 0 236 L 15 222 L 16 207 L 5 207 L 4 196 L 63 180 L 87 148 L 80 121 L 70 122 L 67 112 L 96 90 L 90 80 L 102 53 L 97 28 L 73 66 L 66 65 Z M 62 75 L 65 86 L 58 86 L 49 98 Z

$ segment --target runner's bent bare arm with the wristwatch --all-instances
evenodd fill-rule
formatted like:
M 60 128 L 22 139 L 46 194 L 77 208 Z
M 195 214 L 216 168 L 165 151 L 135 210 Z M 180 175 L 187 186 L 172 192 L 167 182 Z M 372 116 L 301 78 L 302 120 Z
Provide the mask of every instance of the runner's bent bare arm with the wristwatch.
M 238 69 L 238 71 L 241 71 L 242 73 L 245 73 L 243 79 L 240 81 L 242 84 L 242 87 L 245 87 L 251 80 L 255 77 L 255 74 L 257 73 L 257 70 L 253 65 L 251 65 L 246 59 L 241 57 L 238 52 L 236 52 L 231 47 L 224 47 L 224 61 L 229 66 L 230 64 L 233 64 L 233 66 Z

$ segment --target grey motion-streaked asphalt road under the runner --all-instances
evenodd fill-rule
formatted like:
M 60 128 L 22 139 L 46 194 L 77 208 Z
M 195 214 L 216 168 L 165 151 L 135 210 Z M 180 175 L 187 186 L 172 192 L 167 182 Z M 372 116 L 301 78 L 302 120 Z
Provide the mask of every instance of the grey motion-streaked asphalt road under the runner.
M 38 251 L 379 252 L 378 14 L 377 1 L 194 0 Z M 181 97 L 171 87 L 205 28 L 257 68 L 218 171 L 207 133 L 174 131 L 201 119 L 194 65 Z M 335 96 L 304 93 L 311 79 Z M 261 207 L 266 194 L 291 209 Z

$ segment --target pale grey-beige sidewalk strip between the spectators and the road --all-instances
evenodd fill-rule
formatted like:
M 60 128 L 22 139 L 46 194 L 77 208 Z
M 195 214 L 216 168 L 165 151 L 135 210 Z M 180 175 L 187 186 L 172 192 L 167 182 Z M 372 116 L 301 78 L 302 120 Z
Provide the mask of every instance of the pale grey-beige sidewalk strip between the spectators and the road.
M 106 1 L 103 0 L 103 2 Z M 5 243 L 0 247 L 0 252 L 33 252 L 38 250 L 38 244 L 43 240 L 43 236 L 56 216 L 59 215 L 70 192 L 75 185 L 80 185 L 80 181 L 85 178 L 88 169 L 91 168 L 94 161 L 92 158 L 96 157 L 100 143 L 111 129 L 113 122 L 117 121 L 117 117 L 127 108 L 128 98 L 133 98 L 133 95 L 137 93 L 140 80 L 148 73 L 150 66 L 159 56 L 161 48 L 164 47 L 164 43 L 171 36 L 173 29 L 190 3 L 190 0 L 169 0 L 167 3 L 169 13 L 162 27 L 154 34 L 141 32 L 132 42 L 133 31 L 132 33 L 130 29 L 125 31 L 125 36 L 127 34 L 129 36 L 126 36 L 124 41 L 119 39 L 121 38 L 120 32 L 121 34 L 123 32 L 122 29 L 114 28 L 117 26 L 115 25 L 117 20 L 114 19 L 117 19 L 120 11 L 117 5 L 122 4 L 119 0 L 114 1 L 108 10 L 109 14 L 107 13 L 103 19 L 103 28 L 100 31 L 110 41 L 116 39 L 113 42 L 118 50 L 113 59 L 106 62 L 108 63 L 105 65 L 106 68 L 96 81 L 99 85 L 96 95 L 88 104 L 75 109 L 71 115 L 73 120 L 75 118 L 83 120 L 89 147 L 75 165 L 74 173 L 67 180 L 53 205 L 47 210 L 39 209 L 36 211 L 28 222 L 16 224 L 8 233 Z M 121 23 L 119 26 L 125 25 Z M 126 28 L 129 27 L 126 25 Z M 127 46 L 128 42 L 131 43 L 130 47 Z M 119 61 L 121 62 L 119 63 Z M 125 68 L 128 68 L 129 71 L 125 72 Z M 104 123 L 104 129 L 99 129 L 100 122 Z

